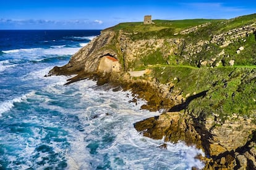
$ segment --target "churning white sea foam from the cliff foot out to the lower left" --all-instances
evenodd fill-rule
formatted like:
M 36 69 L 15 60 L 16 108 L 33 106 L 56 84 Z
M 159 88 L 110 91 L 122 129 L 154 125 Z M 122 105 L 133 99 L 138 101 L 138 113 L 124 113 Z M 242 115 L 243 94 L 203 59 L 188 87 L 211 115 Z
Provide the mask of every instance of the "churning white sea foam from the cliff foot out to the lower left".
M 35 78 L 40 74 L 37 73 Z M 49 136 L 48 130 L 43 127 L 56 127 L 67 132 L 63 137 L 67 139 L 70 148 L 62 147 L 64 142 L 55 142 L 55 136 L 47 144 L 54 148 L 54 153 L 61 156 L 63 154 L 67 160 L 67 169 L 96 169 L 105 164 L 111 169 L 203 168 L 203 163 L 195 159 L 196 155 L 203 155 L 201 150 L 187 147 L 182 142 L 172 144 L 164 142 L 164 139 L 143 137 L 134 129 L 135 122 L 160 113 L 140 110 L 145 101 L 139 100 L 137 105 L 129 102 L 133 99 L 131 92 L 104 90 L 96 87 L 96 82 L 91 80 L 79 81 L 69 86 L 62 86 L 66 81 L 64 77 L 53 76 L 46 80 L 46 87 L 27 97 L 36 100 L 33 105 L 39 105 L 38 108 L 43 110 L 56 111 L 58 116 L 55 119 L 54 115 L 38 113 L 31 114 L 27 121 L 23 120 L 37 124 L 33 126 L 33 138 L 28 140 L 22 137 L 19 142 L 28 143 L 28 147 L 20 147 L 22 150 L 17 151 L 26 161 L 23 168 L 30 166 L 43 169 L 57 164 L 46 163 L 41 167 L 36 164 L 49 157 L 48 152 L 37 152 L 35 149 L 41 145 L 41 139 Z M 62 126 L 59 121 L 63 123 Z M 94 144 L 97 146 L 92 146 Z M 167 145 L 167 150 L 159 148 L 162 144 Z M 38 153 L 40 156 L 30 163 Z

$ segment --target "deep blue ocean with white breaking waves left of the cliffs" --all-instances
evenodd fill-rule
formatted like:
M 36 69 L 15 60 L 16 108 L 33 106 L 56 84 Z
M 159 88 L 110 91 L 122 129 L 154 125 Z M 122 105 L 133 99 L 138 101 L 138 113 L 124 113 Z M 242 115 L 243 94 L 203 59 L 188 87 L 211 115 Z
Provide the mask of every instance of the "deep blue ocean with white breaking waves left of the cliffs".
M 100 30 L 0 30 L 0 169 L 191 169 L 203 154 L 143 137 L 134 123 L 159 112 L 83 80 L 44 77 Z

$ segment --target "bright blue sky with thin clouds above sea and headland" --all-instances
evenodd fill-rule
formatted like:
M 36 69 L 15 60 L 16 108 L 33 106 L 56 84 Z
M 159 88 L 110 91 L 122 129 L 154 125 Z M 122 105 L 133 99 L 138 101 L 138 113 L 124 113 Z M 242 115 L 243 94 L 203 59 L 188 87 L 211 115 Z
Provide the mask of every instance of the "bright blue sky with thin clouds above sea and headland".
M 0 29 L 104 29 L 153 19 L 233 18 L 256 13 L 254 1 L 0 0 Z

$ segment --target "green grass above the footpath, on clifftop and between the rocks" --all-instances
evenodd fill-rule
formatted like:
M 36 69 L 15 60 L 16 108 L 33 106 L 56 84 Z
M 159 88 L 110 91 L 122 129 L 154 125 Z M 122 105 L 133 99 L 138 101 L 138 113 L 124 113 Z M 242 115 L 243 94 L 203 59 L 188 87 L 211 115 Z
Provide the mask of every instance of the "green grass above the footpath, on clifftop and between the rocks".
M 228 29 L 236 28 L 236 26 L 243 26 L 255 21 L 255 14 L 246 15 L 243 17 L 235 18 L 234 20 L 208 20 L 208 19 L 194 19 L 194 20 L 153 20 L 155 24 L 143 25 L 142 22 L 134 23 L 119 23 L 118 25 L 108 28 L 107 30 L 119 31 L 122 30 L 127 33 L 132 41 L 141 39 L 169 39 L 180 38 L 184 39 L 184 45 L 197 44 L 198 41 L 210 41 L 213 34 L 220 34 Z M 203 23 L 211 22 L 210 25 L 198 28 L 197 31 L 181 35 L 174 33 L 181 31 L 192 26 L 202 25 Z M 105 30 L 106 31 L 106 30 Z M 209 61 L 216 59 L 216 62 L 221 61 L 224 66 L 229 66 L 230 60 L 235 60 L 235 65 L 256 65 L 256 41 L 255 35 L 250 34 L 249 37 L 239 39 L 228 47 L 224 48 L 225 55 L 218 56 L 223 50 L 217 44 L 205 44 L 202 46 L 202 51 L 192 55 L 189 59 L 186 59 L 188 55 L 181 46 L 178 48 L 177 55 L 170 55 L 168 59 L 163 57 L 160 51 L 163 49 L 157 49 L 156 52 L 148 52 L 148 55 L 137 56 L 137 60 L 129 63 L 131 70 L 138 70 L 147 65 L 165 64 L 171 65 L 191 65 L 192 67 L 200 67 L 200 61 Z M 115 44 L 115 43 L 114 43 Z M 113 44 L 113 45 L 114 45 Z M 237 54 L 236 51 L 239 47 L 245 48 L 241 54 Z M 210 47 L 210 51 L 207 48 Z M 168 46 L 166 46 L 168 48 Z M 150 46 L 147 49 L 151 49 Z M 168 49 L 164 49 L 166 51 Z M 208 64 L 207 67 L 211 65 Z

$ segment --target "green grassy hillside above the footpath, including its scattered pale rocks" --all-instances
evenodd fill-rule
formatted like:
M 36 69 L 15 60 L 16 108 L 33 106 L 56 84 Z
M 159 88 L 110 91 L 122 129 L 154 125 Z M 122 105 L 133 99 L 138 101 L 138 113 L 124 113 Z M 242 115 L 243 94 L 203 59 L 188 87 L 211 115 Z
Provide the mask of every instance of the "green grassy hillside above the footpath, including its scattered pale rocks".
M 132 41 L 166 39 L 164 42 L 166 46 L 168 46 L 167 39 L 180 39 L 182 41 L 182 44 L 177 46 L 176 54 L 164 56 L 161 51 L 165 50 L 166 52 L 169 49 L 161 48 L 155 49 L 155 52 L 150 52 L 148 55 L 140 55 L 142 61 L 138 60 L 136 63 L 130 64 L 130 67 L 134 69 L 152 65 L 154 64 L 152 61 L 155 64 L 182 64 L 193 67 L 228 66 L 230 60 L 234 60 L 234 65 L 237 66 L 256 64 L 255 31 L 244 36 L 240 35 L 246 26 L 256 24 L 256 14 L 231 20 L 153 20 L 153 22 L 154 24 L 151 25 L 143 25 L 142 22 L 119 23 L 103 30 L 103 32 L 111 30 L 118 34 L 119 31 L 122 31 Z M 222 37 L 218 38 L 221 35 Z M 231 42 L 228 46 L 222 47 L 224 43 L 229 41 Z M 115 42 L 113 46 L 116 46 Z M 244 47 L 244 50 L 237 54 L 239 47 Z M 150 48 L 150 46 L 147 47 L 147 49 Z M 221 52 L 224 53 L 221 54 Z M 202 65 L 202 62 L 206 64 Z

